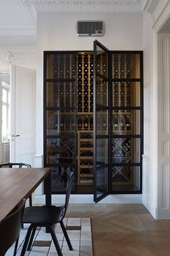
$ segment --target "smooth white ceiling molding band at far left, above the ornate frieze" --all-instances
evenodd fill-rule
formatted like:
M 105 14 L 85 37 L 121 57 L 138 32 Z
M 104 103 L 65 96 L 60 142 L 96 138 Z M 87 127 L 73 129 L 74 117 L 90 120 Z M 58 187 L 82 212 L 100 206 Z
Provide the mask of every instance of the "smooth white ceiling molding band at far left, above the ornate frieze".
M 29 25 L 4 25 L 0 35 L 36 35 L 36 28 Z

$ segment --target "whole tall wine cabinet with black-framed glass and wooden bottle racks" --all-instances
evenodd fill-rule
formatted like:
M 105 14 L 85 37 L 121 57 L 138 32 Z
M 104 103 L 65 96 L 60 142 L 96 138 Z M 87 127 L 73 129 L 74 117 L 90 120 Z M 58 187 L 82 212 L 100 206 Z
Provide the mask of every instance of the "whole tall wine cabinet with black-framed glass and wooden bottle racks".
M 44 52 L 44 166 L 53 193 L 140 193 L 143 54 Z M 95 59 L 94 59 L 95 58 Z

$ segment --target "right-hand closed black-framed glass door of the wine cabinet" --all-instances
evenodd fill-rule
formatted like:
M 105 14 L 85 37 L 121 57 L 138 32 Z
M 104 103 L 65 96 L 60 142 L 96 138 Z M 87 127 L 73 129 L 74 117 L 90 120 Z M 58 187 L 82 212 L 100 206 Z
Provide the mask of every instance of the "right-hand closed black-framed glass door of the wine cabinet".
M 112 53 L 111 191 L 141 193 L 143 69 L 141 52 Z

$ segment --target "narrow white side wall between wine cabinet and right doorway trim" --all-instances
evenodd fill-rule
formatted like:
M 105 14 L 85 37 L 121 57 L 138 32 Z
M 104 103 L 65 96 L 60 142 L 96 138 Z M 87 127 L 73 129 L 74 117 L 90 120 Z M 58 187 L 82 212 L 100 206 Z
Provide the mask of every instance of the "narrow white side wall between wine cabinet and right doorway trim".
M 154 77 L 154 32 L 151 15 L 143 14 L 143 72 L 144 72 L 144 154 L 143 154 L 143 204 L 156 218 L 157 208 L 157 85 Z

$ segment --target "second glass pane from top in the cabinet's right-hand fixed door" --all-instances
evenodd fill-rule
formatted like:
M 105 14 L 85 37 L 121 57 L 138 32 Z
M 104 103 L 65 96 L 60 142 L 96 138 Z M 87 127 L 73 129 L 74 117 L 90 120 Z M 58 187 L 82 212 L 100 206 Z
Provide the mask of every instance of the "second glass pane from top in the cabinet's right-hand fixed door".
M 112 106 L 140 106 L 140 82 L 112 82 Z

